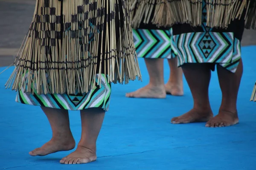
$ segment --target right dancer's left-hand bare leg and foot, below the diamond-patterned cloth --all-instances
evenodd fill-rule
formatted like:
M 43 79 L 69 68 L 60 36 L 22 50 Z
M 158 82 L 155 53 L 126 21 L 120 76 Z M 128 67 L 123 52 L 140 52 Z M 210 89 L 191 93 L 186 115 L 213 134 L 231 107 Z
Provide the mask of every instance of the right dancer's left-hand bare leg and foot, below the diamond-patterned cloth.
M 209 64 L 189 63 L 182 66 L 186 81 L 193 96 L 194 106 L 189 112 L 172 118 L 173 124 L 207 122 L 212 118 L 208 88 L 211 77 Z

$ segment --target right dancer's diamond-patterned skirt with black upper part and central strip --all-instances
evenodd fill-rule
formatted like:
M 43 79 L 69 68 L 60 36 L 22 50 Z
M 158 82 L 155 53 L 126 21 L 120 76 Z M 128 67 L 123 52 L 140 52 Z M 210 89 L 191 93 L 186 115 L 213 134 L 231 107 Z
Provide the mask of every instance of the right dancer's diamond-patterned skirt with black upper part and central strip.
M 210 28 L 207 26 L 207 3 L 203 0 L 201 16 L 201 26 L 192 27 L 186 23 L 172 26 L 172 45 L 177 52 L 178 66 L 212 63 L 212 71 L 218 64 L 236 72 L 241 59 L 244 15 L 240 20 L 232 20 L 227 28 Z

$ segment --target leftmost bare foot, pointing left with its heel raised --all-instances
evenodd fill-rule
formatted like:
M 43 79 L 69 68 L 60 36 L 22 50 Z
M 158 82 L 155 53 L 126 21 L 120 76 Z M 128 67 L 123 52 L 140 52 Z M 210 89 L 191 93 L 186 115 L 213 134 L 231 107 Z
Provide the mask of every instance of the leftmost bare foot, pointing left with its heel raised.
M 38 147 L 35 150 L 29 152 L 31 156 L 46 156 L 50 153 L 55 153 L 58 151 L 72 150 L 76 146 L 76 142 L 72 138 L 63 139 L 51 139 L 49 142 L 45 143 L 42 147 Z

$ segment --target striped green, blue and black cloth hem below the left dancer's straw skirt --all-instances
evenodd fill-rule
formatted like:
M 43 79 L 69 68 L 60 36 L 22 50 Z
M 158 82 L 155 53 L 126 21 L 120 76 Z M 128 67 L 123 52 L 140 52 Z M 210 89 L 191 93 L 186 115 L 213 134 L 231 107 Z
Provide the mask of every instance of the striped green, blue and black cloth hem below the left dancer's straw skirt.
M 27 74 L 26 74 L 27 76 Z M 17 92 L 16 102 L 36 105 L 48 108 L 57 108 L 65 110 L 84 110 L 88 108 L 102 108 L 108 111 L 111 84 L 105 74 L 96 74 L 96 81 L 99 80 L 99 85 L 96 85 L 88 93 L 82 94 L 76 91 L 75 94 L 34 94 L 23 92 L 23 89 Z

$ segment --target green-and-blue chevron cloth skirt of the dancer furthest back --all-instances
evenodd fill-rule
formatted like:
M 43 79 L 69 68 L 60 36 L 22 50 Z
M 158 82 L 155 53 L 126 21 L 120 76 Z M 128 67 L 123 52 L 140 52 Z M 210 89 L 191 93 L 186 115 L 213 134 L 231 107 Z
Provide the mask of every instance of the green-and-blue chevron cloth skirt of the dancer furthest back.
M 151 12 L 156 10 L 157 2 L 151 2 Z M 138 8 L 133 8 L 132 17 L 133 23 L 138 20 L 145 19 L 144 17 L 138 17 Z M 134 44 L 138 58 L 151 58 L 151 59 L 171 59 L 175 57 L 171 44 L 171 32 L 172 28 L 157 27 L 152 24 L 153 15 L 149 15 L 148 22 L 141 22 L 138 26 L 133 24 Z

